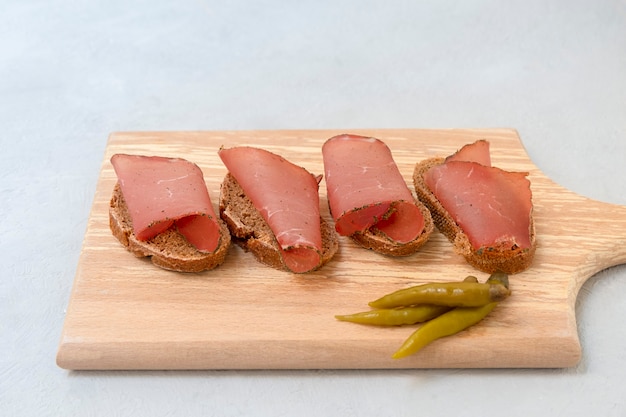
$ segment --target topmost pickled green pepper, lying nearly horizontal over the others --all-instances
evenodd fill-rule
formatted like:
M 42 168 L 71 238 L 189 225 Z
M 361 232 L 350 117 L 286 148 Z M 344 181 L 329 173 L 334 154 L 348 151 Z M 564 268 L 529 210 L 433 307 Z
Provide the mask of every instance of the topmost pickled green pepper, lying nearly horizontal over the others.
M 395 308 L 417 304 L 448 307 L 479 307 L 502 301 L 511 291 L 501 282 L 434 282 L 387 294 L 369 303 L 373 308 Z

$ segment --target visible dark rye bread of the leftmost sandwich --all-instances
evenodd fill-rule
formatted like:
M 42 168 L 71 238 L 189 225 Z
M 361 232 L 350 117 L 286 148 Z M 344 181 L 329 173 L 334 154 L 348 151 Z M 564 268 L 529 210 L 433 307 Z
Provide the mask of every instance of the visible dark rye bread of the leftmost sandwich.
M 154 265 L 177 272 L 201 272 L 213 269 L 224 262 L 231 237 L 226 224 L 220 226 L 220 244 L 213 253 L 197 250 L 175 228 L 170 228 L 148 241 L 138 240 L 133 234 L 133 223 L 118 184 L 113 189 L 109 206 L 109 227 L 113 236 L 138 258 L 150 257 Z

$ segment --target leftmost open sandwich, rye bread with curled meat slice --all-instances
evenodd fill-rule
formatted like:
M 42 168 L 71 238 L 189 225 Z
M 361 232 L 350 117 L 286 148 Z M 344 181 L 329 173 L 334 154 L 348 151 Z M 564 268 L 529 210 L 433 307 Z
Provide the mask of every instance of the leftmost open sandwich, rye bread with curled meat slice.
M 178 272 L 224 262 L 231 238 L 215 214 L 200 168 L 180 158 L 115 154 L 109 206 L 113 235 L 133 255 Z

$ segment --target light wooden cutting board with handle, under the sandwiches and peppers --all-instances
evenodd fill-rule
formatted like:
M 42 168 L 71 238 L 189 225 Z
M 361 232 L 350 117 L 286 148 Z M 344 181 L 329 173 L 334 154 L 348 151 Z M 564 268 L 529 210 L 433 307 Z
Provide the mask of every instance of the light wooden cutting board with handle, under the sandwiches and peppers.
M 475 327 L 416 355 L 390 356 L 413 326 L 377 328 L 335 320 L 379 296 L 474 270 L 437 231 L 417 254 L 389 258 L 341 238 L 321 270 L 296 275 L 257 263 L 233 246 L 219 268 L 180 274 L 137 259 L 113 238 L 108 203 L 114 153 L 182 157 L 203 170 L 214 205 L 226 174 L 220 146 L 253 145 L 323 173 L 321 146 L 342 131 L 124 132 L 109 137 L 67 309 L 57 363 L 66 369 L 322 369 L 569 367 L 581 356 L 574 305 L 587 278 L 626 262 L 626 207 L 592 201 L 552 182 L 510 129 L 360 130 L 391 148 L 412 188 L 417 161 L 477 139 L 492 161 L 528 171 L 538 250 L 511 277 L 512 296 Z M 329 218 L 325 184 L 322 214 Z M 607 343 L 611 343 L 607 341 Z

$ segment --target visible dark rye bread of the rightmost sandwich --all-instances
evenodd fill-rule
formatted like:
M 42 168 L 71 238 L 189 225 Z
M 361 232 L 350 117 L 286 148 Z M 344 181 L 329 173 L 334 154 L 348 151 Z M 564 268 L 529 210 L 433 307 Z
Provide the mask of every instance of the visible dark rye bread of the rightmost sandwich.
M 437 229 L 452 242 L 455 252 L 462 255 L 470 265 L 487 273 L 500 271 L 507 274 L 515 274 L 530 267 L 537 249 L 535 221 L 532 212 L 530 218 L 530 248 L 493 247 L 478 251 L 474 250 L 467 235 L 443 208 L 424 181 L 424 173 L 433 166 L 443 164 L 444 161 L 445 158 L 430 158 L 416 164 L 413 171 L 413 184 L 417 197 L 428 207 Z

